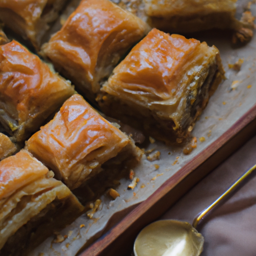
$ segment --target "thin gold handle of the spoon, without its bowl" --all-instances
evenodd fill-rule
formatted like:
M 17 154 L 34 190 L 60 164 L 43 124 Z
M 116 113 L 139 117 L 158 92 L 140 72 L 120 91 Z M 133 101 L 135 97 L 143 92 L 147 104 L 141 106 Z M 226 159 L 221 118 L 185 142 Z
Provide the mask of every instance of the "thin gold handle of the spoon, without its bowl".
M 207 208 L 199 212 L 193 220 L 192 226 L 196 228 L 201 220 L 206 217 L 210 212 L 212 212 L 220 203 L 227 199 L 238 186 L 256 169 L 256 164 L 251 168 L 246 170 L 223 194 L 221 194 L 213 203 L 211 203 Z

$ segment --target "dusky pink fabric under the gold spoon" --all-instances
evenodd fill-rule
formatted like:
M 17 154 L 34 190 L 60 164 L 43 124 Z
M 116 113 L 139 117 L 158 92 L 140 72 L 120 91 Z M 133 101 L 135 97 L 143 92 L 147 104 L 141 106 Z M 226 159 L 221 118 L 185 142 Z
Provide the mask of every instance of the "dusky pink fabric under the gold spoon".
M 192 223 L 198 212 L 255 163 L 256 136 L 196 184 L 161 219 Z M 255 256 L 256 175 L 204 220 L 198 231 L 205 239 L 201 256 Z

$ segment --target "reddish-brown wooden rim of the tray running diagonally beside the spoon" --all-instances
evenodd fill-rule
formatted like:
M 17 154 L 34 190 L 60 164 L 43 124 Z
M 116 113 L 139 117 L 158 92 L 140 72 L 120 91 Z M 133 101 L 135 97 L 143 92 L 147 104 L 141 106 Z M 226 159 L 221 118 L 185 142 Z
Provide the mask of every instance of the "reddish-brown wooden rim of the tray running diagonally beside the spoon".
M 139 230 L 156 220 L 196 182 L 251 138 L 255 131 L 256 105 L 79 255 L 130 256 Z

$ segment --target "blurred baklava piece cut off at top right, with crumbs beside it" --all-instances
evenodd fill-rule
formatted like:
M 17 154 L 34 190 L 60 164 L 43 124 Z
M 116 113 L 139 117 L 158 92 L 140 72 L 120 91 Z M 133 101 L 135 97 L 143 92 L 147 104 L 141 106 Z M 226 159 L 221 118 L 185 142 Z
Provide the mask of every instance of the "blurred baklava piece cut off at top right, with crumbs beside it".
M 252 20 L 236 19 L 237 0 L 143 0 L 153 27 L 170 32 L 194 32 L 211 28 L 232 29 L 240 41 L 252 37 Z

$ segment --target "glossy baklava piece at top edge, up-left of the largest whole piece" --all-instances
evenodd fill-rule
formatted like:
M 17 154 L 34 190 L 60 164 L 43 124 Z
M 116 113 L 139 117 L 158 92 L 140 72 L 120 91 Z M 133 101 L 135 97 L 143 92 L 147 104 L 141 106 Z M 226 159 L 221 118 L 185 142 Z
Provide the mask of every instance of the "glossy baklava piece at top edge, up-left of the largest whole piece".
M 146 32 L 146 23 L 109 0 L 82 0 L 42 52 L 94 100 L 102 80 Z

